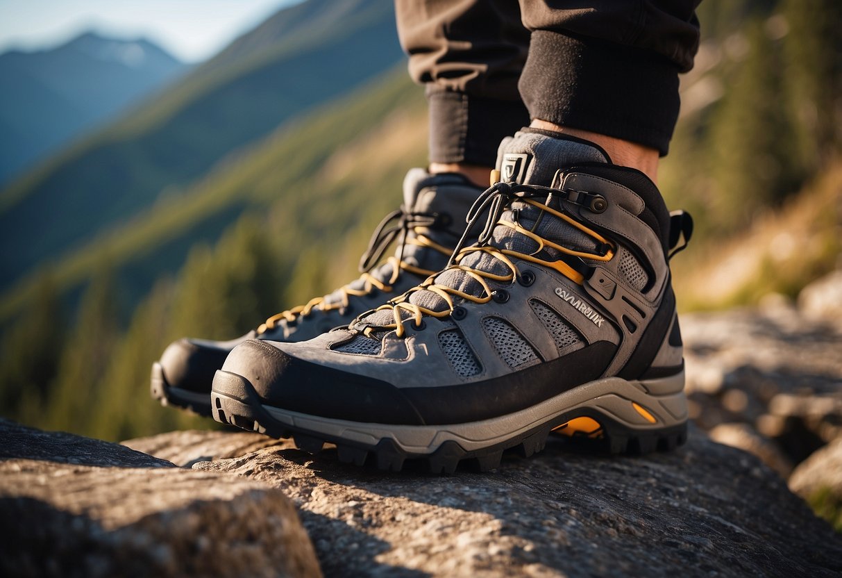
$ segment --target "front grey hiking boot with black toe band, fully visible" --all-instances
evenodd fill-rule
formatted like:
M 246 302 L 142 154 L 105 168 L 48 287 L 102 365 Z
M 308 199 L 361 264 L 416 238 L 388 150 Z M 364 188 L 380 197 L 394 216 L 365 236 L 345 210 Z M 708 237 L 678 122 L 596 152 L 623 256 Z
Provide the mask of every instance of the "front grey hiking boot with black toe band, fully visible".
M 671 219 L 644 174 L 557 133 L 507 138 L 498 171 L 469 214 L 484 223 L 477 243 L 348 328 L 238 345 L 214 378 L 214 418 L 435 473 L 469 458 L 495 468 L 551 431 L 609 452 L 684 442 L 668 252 L 689 217 Z

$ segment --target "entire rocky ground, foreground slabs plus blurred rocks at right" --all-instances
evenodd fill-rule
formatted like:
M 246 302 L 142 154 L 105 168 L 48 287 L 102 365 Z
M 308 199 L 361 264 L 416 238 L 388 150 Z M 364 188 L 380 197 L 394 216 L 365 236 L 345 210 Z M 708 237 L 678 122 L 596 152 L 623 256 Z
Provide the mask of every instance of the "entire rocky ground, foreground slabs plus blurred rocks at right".
M 695 426 L 644 457 L 555 440 L 489 474 L 384 474 L 245 432 L 0 421 L 0 575 L 839 575 L 807 502 L 842 529 L 840 292 L 683 317 Z

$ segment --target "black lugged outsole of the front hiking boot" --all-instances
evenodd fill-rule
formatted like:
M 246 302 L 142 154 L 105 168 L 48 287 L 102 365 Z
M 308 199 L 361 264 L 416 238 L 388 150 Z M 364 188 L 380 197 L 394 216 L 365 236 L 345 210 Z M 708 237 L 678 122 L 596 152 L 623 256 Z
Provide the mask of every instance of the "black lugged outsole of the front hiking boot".
M 458 442 L 447 440 L 434 452 L 413 453 L 404 451 L 390 438 L 381 438 L 376 444 L 366 444 L 282 423 L 264 409 L 258 393 L 246 379 L 228 372 L 218 372 L 217 379 L 220 377 L 226 381 L 226 385 L 231 384 L 233 380 L 234 387 L 227 388 L 227 391 L 217 391 L 214 388 L 211 392 L 213 417 L 216 421 L 277 439 L 292 438 L 296 447 L 313 454 L 321 452 L 324 444 L 333 443 L 340 462 L 357 466 L 371 465 L 392 472 L 401 471 L 408 463 L 413 463 L 415 468 L 430 474 L 453 474 L 460 464 L 473 471 L 486 472 L 499 467 L 504 452 L 514 450 L 525 458 L 541 452 L 553 431 L 563 433 L 568 430 L 567 435 L 557 437 L 568 442 L 568 446 L 574 451 L 603 454 L 642 455 L 669 451 L 687 441 L 686 421 L 658 430 L 638 431 L 599 412 L 576 409 L 558 415 L 530 431 L 482 449 L 466 451 Z M 575 423 L 577 418 L 589 418 L 598 422 L 599 430 L 570 432 L 570 429 L 575 428 L 569 426 Z

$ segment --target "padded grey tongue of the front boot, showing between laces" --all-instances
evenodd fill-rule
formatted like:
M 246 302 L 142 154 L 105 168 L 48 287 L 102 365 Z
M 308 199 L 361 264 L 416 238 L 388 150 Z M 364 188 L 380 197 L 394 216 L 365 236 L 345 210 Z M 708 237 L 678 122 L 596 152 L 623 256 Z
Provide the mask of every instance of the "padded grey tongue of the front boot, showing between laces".
M 544 131 L 524 129 L 514 136 L 504 138 L 500 143 L 497 158 L 500 178 L 519 184 L 550 186 L 558 169 L 580 163 L 610 163 L 600 147 L 578 139 L 573 140 L 567 136 L 558 136 L 549 136 Z M 557 201 L 554 204 L 557 205 Z M 514 222 L 513 211 L 517 211 L 517 222 L 520 227 L 550 239 L 554 243 L 584 251 L 593 251 L 596 248 L 594 239 L 589 238 L 577 228 L 546 213 L 541 217 L 541 209 L 523 201 L 514 201 L 501 218 Z M 473 233 L 478 234 L 479 231 L 473 231 Z M 510 249 L 523 254 L 533 254 L 538 249 L 535 241 L 503 225 L 494 227 L 491 244 L 499 249 Z M 552 252 L 552 249 L 545 250 Z M 544 258 L 552 260 L 556 256 L 548 254 Z M 481 251 L 467 254 L 460 261 L 460 265 L 467 265 L 474 270 L 482 270 L 499 276 L 511 273 L 509 266 L 503 261 Z M 435 277 L 435 284 L 450 286 L 477 297 L 481 297 L 483 293 L 480 283 L 459 269 L 442 271 Z M 489 285 L 494 286 L 494 283 L 489 281 Z M 448 308 L 447 303 L 439 294 L 427 290 L 411 293 L 409 302 L 433 311 L 445 311 Z M 408 315 L 409 313 L 405 310 L 402 311 L 403 318 L 407 318 Z M 384 310 L 372 313 L 364 321 L 374 325 L 390 324 L 393 321 L 392 312 Z

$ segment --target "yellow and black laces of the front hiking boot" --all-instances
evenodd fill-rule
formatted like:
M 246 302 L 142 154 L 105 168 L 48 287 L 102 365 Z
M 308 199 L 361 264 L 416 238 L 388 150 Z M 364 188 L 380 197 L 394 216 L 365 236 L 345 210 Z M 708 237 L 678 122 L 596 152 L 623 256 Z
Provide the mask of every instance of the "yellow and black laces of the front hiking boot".
M 474 206 L 472 206 L 472 209 L 468 214 L 469 225 L 466 228 L 466 232 L 463 235 L 460 244 L 457 245 L 455 257 L 451 259 L 451 263 L 450 265 L 448 265 L 445 271 L 463 271 L 467 276 L 470 276 L 473 280 L 477 281 L 480 284 L 480 286 L 482 286 L 482 295 L 477 296 L 472 295 L 470 293 L 461 292 L 458 289 L 455 289 L 454 287 L 438 284 L 434 281 L 433 277 L 429 277 L 426 281 L 424 281 L 424 283 L 413 287 L 408 292 L 404 293 L 402 296 L 393 299 L 392 302 L 386 303 L 385 305 L 381 305 L 381 307 L 376 309 L 376 311 L 391 310 L 392 316 L 394 318 L 393 324 L 370 325 L 363 329 L 363 334 L 365 334 L 366 337 L 371 337 L 371 333 L 373 331 L 381 331 L 383 329 L 394 329 L 397 336 L 402 337 L 403 334 L 405 334 L 403 324 L 405 324 L 409 320 L 413 320 L 415 326 L 419 327 L 423 322 L 424 315 L 429 315 L 431 317 L 436 318 L 444 318 L 452 314 L 454 308 L 456 308 L 452 297 L 458 297 L 461 299 L 465 299 L 466 301 L 475 303 L 487 303 L 491 301 L 493 299 L 493 290 L 490 286 L 488 286 L 488 282 L 486 280 L 508 283 L 513 281 L 514 277 L 520 274 L 517 265 L 514 265 L 512 260 L 509 259 L 509 257 L 530 261 L 531 263 L 534 263 L 536 265 L 541 265 L 543 267 L 557 270 L 563 276 L 566 276 L 571 281 L 581 285 L 584 281 L 584 276 L 582 276 L 581 273 L 573 269 L 573 267 L 565 263 L 563 260 L 542 260 L 536 257 L 535 255 L 540 253 L 542 249 L 551 248 L 556 249 L 557 251 L 560 251 L 563 254 L 568 254 L 572 257 L 596 261 L 609 261 L 614 256 L 615 249 L 613 248 L 613 244 L 611 244 L 608 239 L 600 235 L 600 233 L 595 232 L 594 230 L 590 229 L 589 227 L 586 227 L 582 223 L 576 221 L 572 217 L 569 217 L 568 215 L 560 211 L 556 211 L 555 209 L 552 209 L 551 207 L 546 206 L 540 202 L 533 201 L 530 198 L 526 198 L 527 195 L 530 194 L 547 195 L 547 191 L 555 193 L 560 192 L 558 190 L 547 190 L 543 187 L 529 187 L 526 185 L 510 187 L 509 185 L 505 185 L 504 183 L 498 183 L 498 185 L 493 186 L 491 189 L 483 193 L 482 196 L 480 196 L 480 198 L 477 199 L 477 202 L 474 204 Z M 570 224 L 571 226 L 576 227 L 582 233 L 585 233 L 590 238 L 593 238 L 600 244 L 603 244 L 603 246 L 610 247 L 610 249 L 606 249 L 604 254 L 589 253 L 585 251 L 568 249 L 566 247 L 563 247 L 562 245 L 553 243 L 549 239 L 542 238 L 540 235 L 537 235 L 536 233 L 533 233 L 525 229 L 524 227 L 521 227 L 520 224 L 517 222 L 509 222 L 502 220 L 500 217 L 502 216 L 505 207 L 508 206 L 515 199 L 525 202 L 530 206 L 534 206 L 542 212 L 549 213 L 553 217 L 560 218 L 564 222 L 568 222 L 568 224 Z M 480 240 L 477 242 L 477 244 L 474 244 L 470 247 L 466 247 L 464 249 L 461 248 L 461 244 L 464 243 L 473 224 L 477 222 L 479 216 L 482 215 L 482 213 L 484 213 L 485 210 L 488 208 L 490 208 L 491 214 L 489 214 L 488 221 L 486 222 L 486 227 L 479 237 Z M 541 217 L 543 217 L 542 214 Z M 536 223 L 540 221 L 540 217 L 536 219 Z M 514 231 L 529 237 L 538 244 L 538 249 L 536 249 L 532 254 L 524 254 L 511 249 L 500 249 L 494 247 L 493 245 L 488 245 L 487 243 L 488 241 L 490 241 L 491 234 L 493 233 L 493 227 L 495 227 L 496 225 L 510 227 L 514 229 Z M 488 271 L 474 269 L 473 267 L 468 265 L 461 265 L 460 261 L 463 260 L 466 257 L 466 255 L 477 252 L 490 254 L 494 258 L 502 261 L 509 268 L 509 274 L 495 275 L 493 273 L 489 273 Z M 442 271 L 441 273 L 444 273 L 445 271 Z M 441 275 L 441 273 L 439 275 Z M 413 292 L 424 290 L 431 291 L 439 295 L 442 299 L 445 300 L 447 308 L 441 311 L 435 311 L 433 309 L 424 308 L 415 303 L 409 302 L 409 297 Z M 409 313 L 409 317 L 402 318 L 402 312 Z

